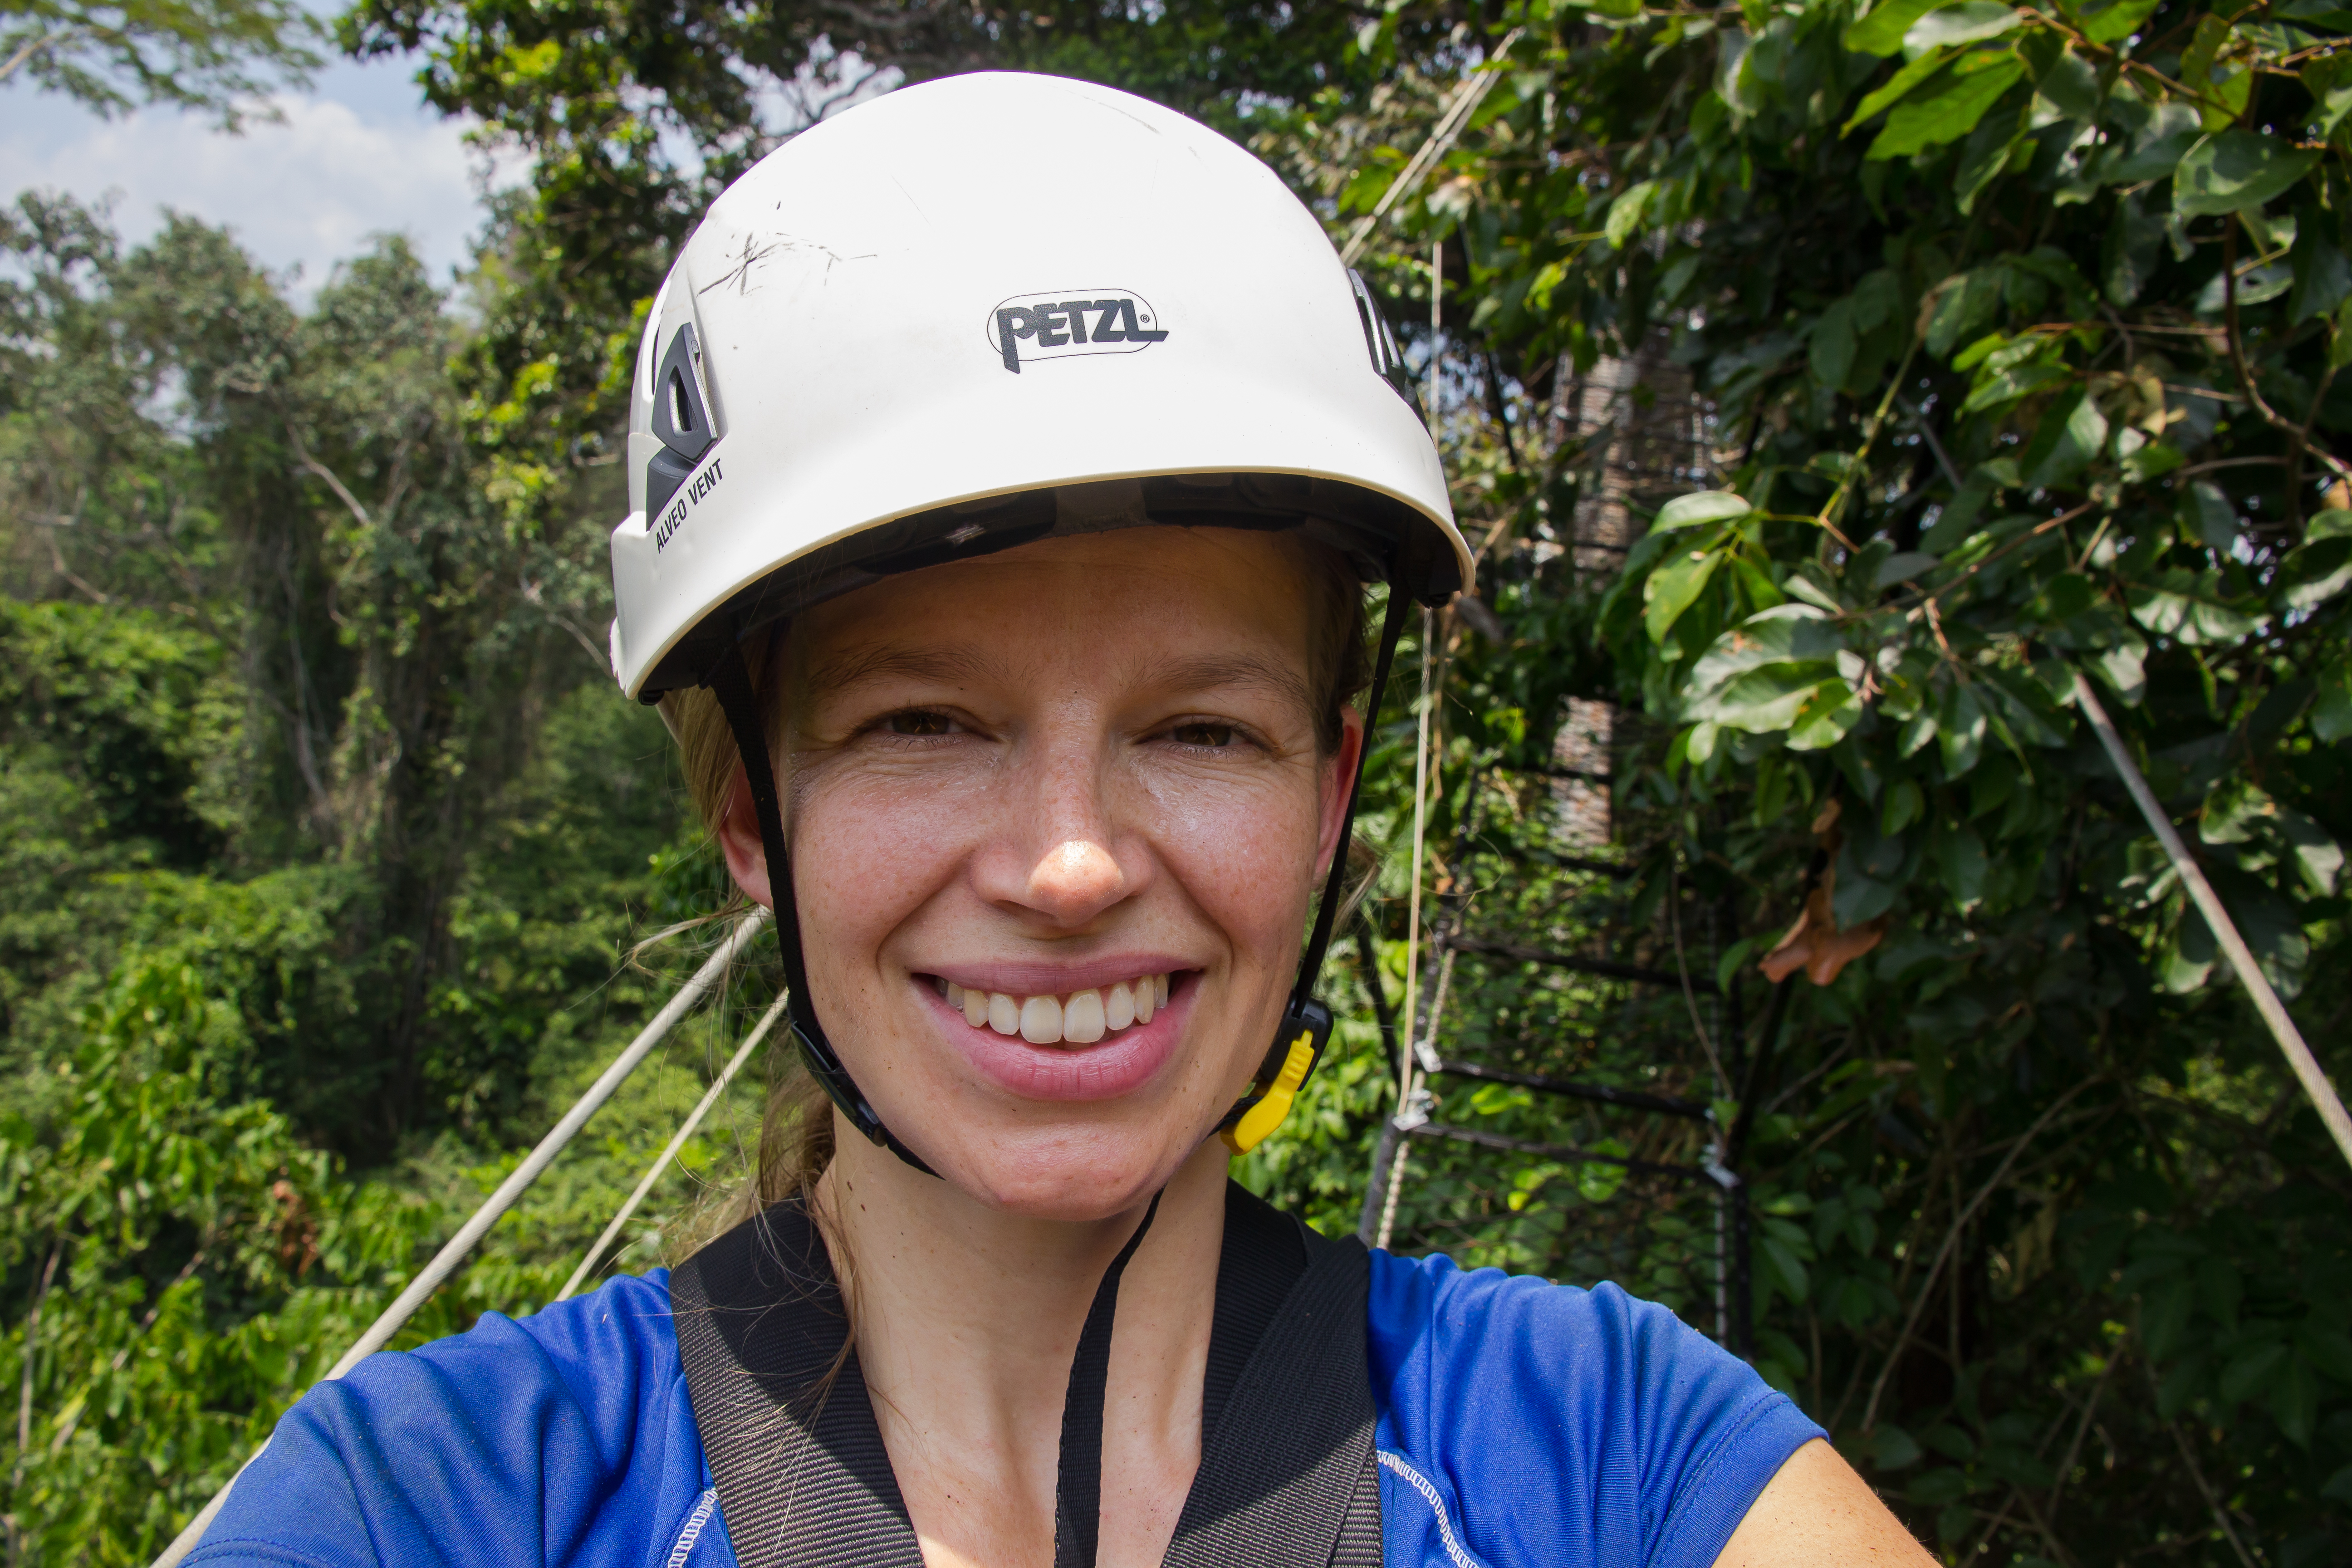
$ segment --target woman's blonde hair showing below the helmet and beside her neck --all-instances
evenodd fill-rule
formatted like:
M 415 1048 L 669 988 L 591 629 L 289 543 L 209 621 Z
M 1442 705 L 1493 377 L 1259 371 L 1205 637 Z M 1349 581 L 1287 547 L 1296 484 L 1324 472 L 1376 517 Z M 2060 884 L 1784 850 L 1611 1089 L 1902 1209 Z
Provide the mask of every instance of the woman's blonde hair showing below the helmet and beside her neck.
M 1364 592 L 1355 569 L 1338 550 L 1298 534 L 1272 534 L 1270 538 L 1291 552 L 1298 578 L 1305 585 L 1305 609 L 1312 628 L 1308 642 L 1308 689 L 1315 693 L 1315 745 L 1329 757 L 1341 743 L 1343 710 L 1371 684 L 1371 658 L 1364 649 Z M 786 717 L 790 651 L 793 637 L 788 630 L 783 635 L 755 635 L 743 644 L 753 691 L 760 696 L 771 736 Z M 727 797 L 734 790 L 736 771 L 743 766 L 736 755 L 734 731 L 727 726 L 727 715 L 720 710 L 717 696 L 694 686 L 663 696 L 661 717 L 670 724 L 670 733 L 677 736 L 680 769 L 684 771 L 687 795 L 703 823 L 703 832 L 715 837 L 720 818 L 727 811 Z M 1371 738 L 1367 736 L 1364 743 L 1371 745 Z M 786 802 L 790 799 L 788 788 L 781 795 Z M 1348 849 L 1348 860 L 1359 872 L 1359 896 L 1369 882 L 1369 875 L 1364 875 L 1369 851 L 1359 842 Z M 1350 896 L 1352 903 L 1355 896 Z M 720 914 L 741 907 L 748 907 L 748 900 L 736 891 Z M 687 1229 L 699 1239 L 708 1239 L 760 1208 L 790 1197 L 804 1197 L 830 1164 L 833 1105 L 795 1053 L 793 1067 L 771 1081 L 767 1105 L 760 1112 L 760 1168 L 736 1192 L 717 1201 L 717 1213 L 708 1215 L 713 1222 L 689 1225 Z

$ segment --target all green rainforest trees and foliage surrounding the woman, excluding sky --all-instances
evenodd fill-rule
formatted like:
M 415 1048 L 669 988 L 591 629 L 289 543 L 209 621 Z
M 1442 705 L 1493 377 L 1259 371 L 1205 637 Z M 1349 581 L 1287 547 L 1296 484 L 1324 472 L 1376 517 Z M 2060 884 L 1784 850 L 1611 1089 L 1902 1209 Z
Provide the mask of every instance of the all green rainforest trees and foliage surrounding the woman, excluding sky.
M 1950 1561 L 2352 1559 L 2352 1173 L 2072 684 L 2352 1081 L 2347 28 L 7 0 L 9 92 L 233 115 L 402 54 L 529 169 L 456 289 L 390 237 L 301 303 L 193 221 L 0 216 L 9 1561 L 148 1561 L 715 940 L 602 651 L 635 334 L 776 103 L 988 66 L 1202 115 L 1336 237 L 1494 78 L 1362 261 L 1484 581 L 1399 658 L 1338 1056 L 1244 1178 L 1338 1232 L 1392 1166 L 1425 719 L 1409 1037 L 1712 1121 L 1439 1072 L 1484 1143 L 1406 1143 L 1399 1246 L 1752 1347 Z M 771 994 L 682 1027 L 402 1342 L 543 1305 Z M 1656 1171 L 1710 1154 L 1745 1288 L 1719 1190 Z

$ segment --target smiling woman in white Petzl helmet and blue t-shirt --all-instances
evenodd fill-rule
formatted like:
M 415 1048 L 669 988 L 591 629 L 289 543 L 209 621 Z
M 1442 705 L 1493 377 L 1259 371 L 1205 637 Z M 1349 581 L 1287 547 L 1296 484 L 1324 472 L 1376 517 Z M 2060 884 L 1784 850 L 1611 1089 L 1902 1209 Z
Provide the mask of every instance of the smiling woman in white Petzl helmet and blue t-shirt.
M 1042 167 L 1084 200 L 1004 200 Z M 1155 301 L 1145 350 L 1016 353 L 1080 294 Z M 1468 585 L 1388 343 L 1268 169 L 1077 82 L 891 94 L 713 207 L 614 670 L 776 912 L 807 1079 L 741 1222 L 315 1389 L 191 1561 L 1926 1561 L 1670 1312 L 1225 1175 L 1329 1037 L 1355 698 Z

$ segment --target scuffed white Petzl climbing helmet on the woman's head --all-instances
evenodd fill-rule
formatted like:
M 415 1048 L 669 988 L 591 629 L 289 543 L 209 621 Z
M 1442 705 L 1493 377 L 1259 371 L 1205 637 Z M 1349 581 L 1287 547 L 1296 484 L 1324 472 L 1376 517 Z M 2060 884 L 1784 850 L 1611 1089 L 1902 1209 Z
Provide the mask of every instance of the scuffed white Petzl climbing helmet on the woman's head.
M 1303 527 L 1423 602 L 1470 552 L 1397 343 L 1256 158 L 981 73 L 802 132 L 654 296 L 612 534 L 652 701 L 887 571 L 1141 522 Z

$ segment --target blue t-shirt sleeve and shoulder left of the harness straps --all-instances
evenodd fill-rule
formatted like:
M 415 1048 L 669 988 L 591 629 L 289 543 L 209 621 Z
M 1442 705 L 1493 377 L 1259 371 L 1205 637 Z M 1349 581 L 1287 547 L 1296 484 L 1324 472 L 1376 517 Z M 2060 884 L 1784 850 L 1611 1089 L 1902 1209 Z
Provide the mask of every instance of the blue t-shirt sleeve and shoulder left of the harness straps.
M 195 1568 L 647 1568 L 701 1490 L 666 1276 L 362 1361 L 238 1479 Z

